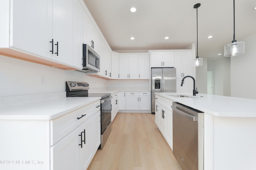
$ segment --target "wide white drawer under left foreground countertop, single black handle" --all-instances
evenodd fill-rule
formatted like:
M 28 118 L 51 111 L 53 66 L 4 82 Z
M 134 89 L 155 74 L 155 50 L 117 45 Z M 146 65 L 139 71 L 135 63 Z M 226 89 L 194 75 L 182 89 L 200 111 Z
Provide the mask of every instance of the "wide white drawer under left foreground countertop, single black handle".
M 68 135 L 68 133 L 76 129 L 76 127 L 84 123 L 84 121 L 92 117 L 95 111 L 94 109 L 95 103 L 96 102 L 51 120 L 50 121 L 51 145 L 54 145 L 60 139 Z M 85 116 L 82 116 L 82 115 L 85 115 Z

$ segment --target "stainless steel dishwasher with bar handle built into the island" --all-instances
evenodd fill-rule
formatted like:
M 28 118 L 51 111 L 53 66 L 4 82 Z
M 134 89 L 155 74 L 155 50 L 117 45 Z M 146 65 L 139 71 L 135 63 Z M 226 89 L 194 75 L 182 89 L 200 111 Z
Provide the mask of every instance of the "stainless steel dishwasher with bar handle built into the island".
M 204 113 L 173 102 L 173 154 L 182 170 L 204 169 Z

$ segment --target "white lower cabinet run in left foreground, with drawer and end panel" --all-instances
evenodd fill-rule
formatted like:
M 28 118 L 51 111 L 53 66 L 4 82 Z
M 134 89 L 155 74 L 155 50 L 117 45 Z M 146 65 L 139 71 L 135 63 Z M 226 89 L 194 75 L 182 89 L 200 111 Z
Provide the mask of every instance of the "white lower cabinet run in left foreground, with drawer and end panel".
M 52 120 L 0 120 L 0 160 L 13 160 L 0 169 L 86 170 L 100 146 L 98 105 L 100 100 Z

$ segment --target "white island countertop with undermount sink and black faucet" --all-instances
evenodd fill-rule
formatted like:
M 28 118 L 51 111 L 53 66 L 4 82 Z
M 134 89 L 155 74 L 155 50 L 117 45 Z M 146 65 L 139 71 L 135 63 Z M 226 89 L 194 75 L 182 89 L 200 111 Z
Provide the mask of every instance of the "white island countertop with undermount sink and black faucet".
M 155 93 L 156 95 L 193 107 L 218 117 L 256 117 L 256 100 L 191 93 Z M 193 98 L 177 98 L 170 95 L 187 95 Z M 203 97 L 200 97 L 203 96 Z

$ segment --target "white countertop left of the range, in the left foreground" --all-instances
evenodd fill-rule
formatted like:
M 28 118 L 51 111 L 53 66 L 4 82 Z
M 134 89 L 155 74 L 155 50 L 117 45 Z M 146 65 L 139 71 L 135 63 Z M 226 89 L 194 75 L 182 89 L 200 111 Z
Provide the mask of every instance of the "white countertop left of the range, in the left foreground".
M 94 98 L 59 98 L 1 109 L 0 120 L 52 120 L 100 100 Z

